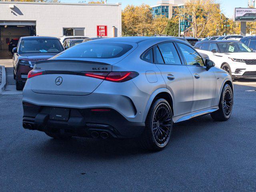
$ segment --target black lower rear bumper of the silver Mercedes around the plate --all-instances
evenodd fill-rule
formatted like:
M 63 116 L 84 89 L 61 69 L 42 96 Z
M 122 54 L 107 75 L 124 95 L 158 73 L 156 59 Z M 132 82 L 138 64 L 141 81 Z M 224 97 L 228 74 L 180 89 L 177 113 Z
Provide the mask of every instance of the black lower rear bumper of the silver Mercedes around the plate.
M 24 104 L 24 128 L 43 132 L 57 132 L 70 136 L 91 137 L 92 132 L 107 132 L 114 138 L 136 138 L 145 128 L 144 122 L 130 122 L 114 109 L 107 112 L 91 111 L 91 108 L 69 108 L 66 121 L 50 118 L 50 106 Z

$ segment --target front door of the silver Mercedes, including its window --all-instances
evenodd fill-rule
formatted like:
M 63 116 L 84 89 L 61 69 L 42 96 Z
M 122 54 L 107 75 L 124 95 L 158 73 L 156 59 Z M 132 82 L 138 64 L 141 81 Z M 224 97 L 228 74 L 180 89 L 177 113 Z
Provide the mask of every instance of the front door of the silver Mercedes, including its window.
M 216 92 L 214 72 L 211 69 L 206 70 L 203 59 L 194 48 L 183 43 L 177 43 L 177 45 L 193 77 L 194 92 L 191 112 L 214 106 Z

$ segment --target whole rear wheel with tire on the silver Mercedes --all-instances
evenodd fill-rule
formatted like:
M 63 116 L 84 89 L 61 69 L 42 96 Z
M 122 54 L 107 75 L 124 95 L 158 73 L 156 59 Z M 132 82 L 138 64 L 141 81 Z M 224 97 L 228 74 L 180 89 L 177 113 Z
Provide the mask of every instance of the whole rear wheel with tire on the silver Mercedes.
M 148 111 L 146 127 L 139 138 L 139 144 L 145 150 L 163 150 L 170 141 L 172 124 L 172 110 L 169 103 L 165 99 L 157 99 Z

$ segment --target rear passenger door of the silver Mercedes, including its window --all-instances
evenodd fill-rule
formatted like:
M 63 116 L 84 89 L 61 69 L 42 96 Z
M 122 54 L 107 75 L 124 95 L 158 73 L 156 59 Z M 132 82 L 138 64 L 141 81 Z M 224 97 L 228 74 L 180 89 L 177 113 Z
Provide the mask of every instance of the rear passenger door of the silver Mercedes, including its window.
M 182 63 L 174 43 L 164 42 L 154 46 L 154 62 L 172 93 L 174 116 L 189 113 L 193 102 L 193 78 L 188 67 Z

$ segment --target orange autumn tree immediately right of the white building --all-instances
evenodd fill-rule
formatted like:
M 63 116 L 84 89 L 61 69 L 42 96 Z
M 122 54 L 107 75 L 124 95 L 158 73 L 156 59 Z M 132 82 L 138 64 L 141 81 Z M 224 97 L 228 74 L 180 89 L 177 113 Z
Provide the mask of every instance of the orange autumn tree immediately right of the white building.
M 127 5 L 122 11 L 122 36 L 149 36 L 154 34 L 150 6 Z

